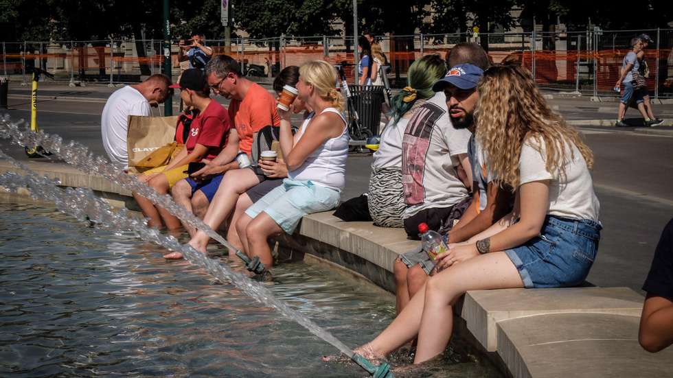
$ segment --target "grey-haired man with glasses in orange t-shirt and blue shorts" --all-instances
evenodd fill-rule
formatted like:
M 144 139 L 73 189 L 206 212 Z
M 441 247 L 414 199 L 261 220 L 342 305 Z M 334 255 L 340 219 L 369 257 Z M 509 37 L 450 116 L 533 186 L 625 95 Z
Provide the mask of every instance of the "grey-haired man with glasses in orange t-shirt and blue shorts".
M 229 119 L 236 130 L 229 132 L 229 138 L 238 139 L 238 149 L 250 155 L 253 134 L 265 126 L 280 125 L 275 98 L 259 84 L 244 78 L 238 62 L 230 56 L 212 58 L 205 73 L 211 90 L 231 100 Z M 203 218 L 224 174 L 239 168 L 235 157 L 220 153 L 190 178 L 178 182 L 171 191 L 175 201 Z M 237 185 L 253 187 L 260 182 L 261 179 L 252 169 L 243 171 L 245 174 L 242 175 L 242 180 L 237 177 Z M 235 204 L 236 202 L 233 203 Z M 188 225 L 185 228 L 190 235 L 194 234 L 194 228 Z

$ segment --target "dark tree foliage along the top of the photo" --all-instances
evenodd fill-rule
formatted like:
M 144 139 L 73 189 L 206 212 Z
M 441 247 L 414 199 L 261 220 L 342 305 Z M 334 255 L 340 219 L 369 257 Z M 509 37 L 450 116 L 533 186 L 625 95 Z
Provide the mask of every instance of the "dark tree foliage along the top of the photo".
M 252 38 L 334 35 L 336 20 L 350 34 L 352 0 L 233 0 L 234 27 Z M 515 19 L 510 10 L 521 8 Z M 162 38 L 159 0 L 0 0 L 3 40 L 91 40 L 144 36 Z M 223 38 L 220 0 L 171 1 L 174 36 L 201 29 Z M 358 27 L 377 34 L 453 33 L 478 25 L 482 32 L 521 25 L 543 29 L 557 20 L 569 29 L 668 27 L 670 0 L 358 0 Z M 430 21 L 430 22 L 428 22 Z

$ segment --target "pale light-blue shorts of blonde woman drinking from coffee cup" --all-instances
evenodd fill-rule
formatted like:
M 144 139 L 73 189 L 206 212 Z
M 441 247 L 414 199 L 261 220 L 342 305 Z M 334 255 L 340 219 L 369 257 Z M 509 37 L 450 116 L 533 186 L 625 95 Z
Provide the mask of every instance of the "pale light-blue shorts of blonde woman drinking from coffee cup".
M 341 193 L 310 180 L 283 180 L 283 185 L 260 198 L 245 213 L 255 219 L 264 211 L 283 231 L 292 234 L 304 215 L 334 209 Z

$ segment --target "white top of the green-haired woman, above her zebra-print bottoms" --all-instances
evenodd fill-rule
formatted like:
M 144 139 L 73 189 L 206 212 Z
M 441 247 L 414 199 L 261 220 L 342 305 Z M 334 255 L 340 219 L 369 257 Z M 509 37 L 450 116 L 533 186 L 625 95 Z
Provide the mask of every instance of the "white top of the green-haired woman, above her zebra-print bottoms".
M 413 113 L 424 103 L 424 99 L 416 100 L 411 109 L 402 115 L 397 124 L 395 124 L 394 119 L 390 119 L 383 130 L 383 134 L 381 134 L 378 150 L 374 152 L 372 167 L 402 167 L 402 137 L 404 136 L 404 130 L 407 130 L 409 119 L 413 117 Z

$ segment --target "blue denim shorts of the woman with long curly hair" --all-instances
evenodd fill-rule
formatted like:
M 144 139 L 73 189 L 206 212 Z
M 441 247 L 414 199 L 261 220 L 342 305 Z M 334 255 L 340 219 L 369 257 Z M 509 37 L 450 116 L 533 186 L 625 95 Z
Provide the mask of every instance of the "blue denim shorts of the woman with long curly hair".
M 596 258 L 600 223 L 547 215 L 540 235 L 505 250 L 525 287 L 564 287 L 584 282 Z

